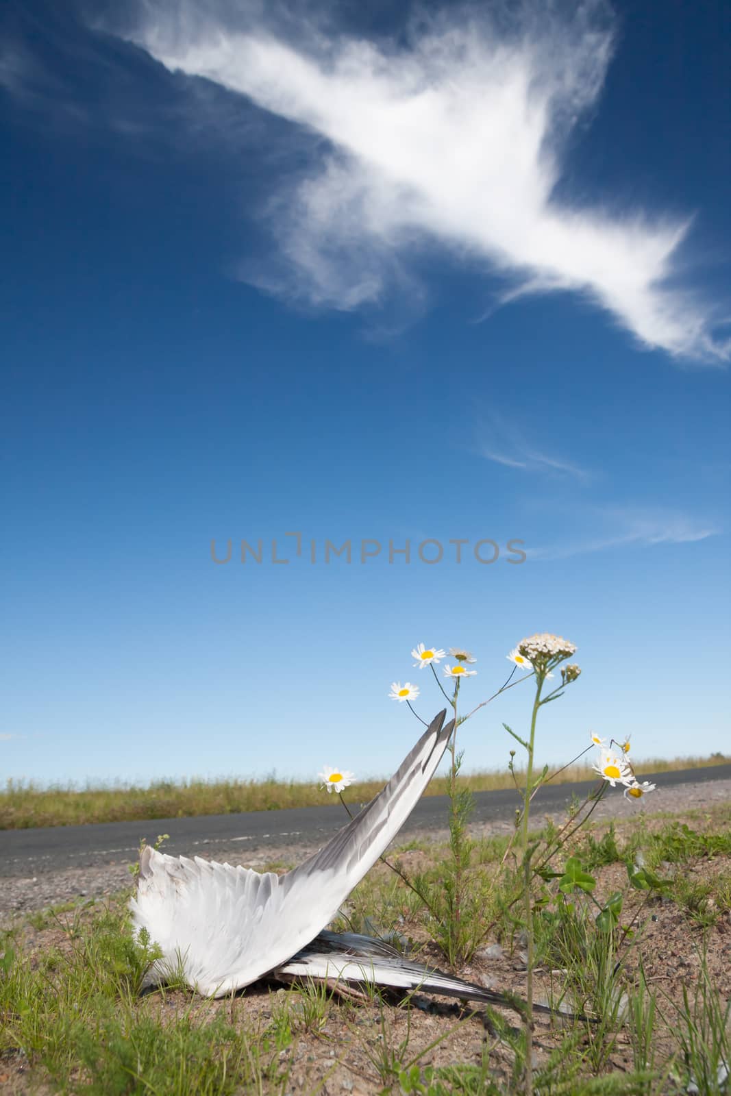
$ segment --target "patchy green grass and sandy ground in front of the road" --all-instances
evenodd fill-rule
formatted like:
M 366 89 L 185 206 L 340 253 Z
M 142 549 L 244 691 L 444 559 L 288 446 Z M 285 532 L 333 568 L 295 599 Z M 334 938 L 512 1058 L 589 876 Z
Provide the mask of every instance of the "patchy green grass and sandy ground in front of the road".
M 521 881 L 506 841 L 470 845 L 475 947 L 457 971 L 522 995 Z M 721 1096 L 731 1064 L 731 807 L 589 825 L 562 858 L 569 854 L 595 877 L 599 902 L 614 892 L 624 904 L 616 926 L 597 932 L 589 894 L 568 897 L 558 880 L 535 880 L 536 1000 L 593 1017 L 537 1018 L 535 1093 Z M 448 850 L 411 843 L 395 855 L 412 876 L 439 883 Z M 658 887 L 630 886 L 628 867 L 640 861 Z M 151 951 L 132 938 L 128 893 L 18 917 L 0 933 L 3 1093 L 523 1091 L 525 1030 L 504 1009 L 426 1005 L 418 996 L 397 1006 L 375 992 L 354 1002 L 315 984 L 258 983 L 220 1001 L 174 985 L 140 996 Z M 429 914 L 384 865 L 334 927 L 374 926 L 396 931 L 416 958 L 447 966 Z

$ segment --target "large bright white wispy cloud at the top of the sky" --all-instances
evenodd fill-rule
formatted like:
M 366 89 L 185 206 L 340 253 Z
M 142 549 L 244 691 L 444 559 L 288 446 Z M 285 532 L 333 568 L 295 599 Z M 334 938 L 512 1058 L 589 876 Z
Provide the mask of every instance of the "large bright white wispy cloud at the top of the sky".
M 379 42 L 323 31 L 293 14 L 301 7 L 278 22 L 253 3 L 148 0 L 142 11 L 127 37 L 170 70 L 312 135 L 315 167 L 284 181 L 266 209 L 278 262 L 250 264 L 249 281 L 353 310 L 399 285 L 414 292 L 414 254 L 436 243 L 502 275 L 505 300 L 571 290 L 643 346 L 731 355 L 731 340 L 713 336 L 728 317 L 678 285 L 690 215 L 557 196 L 567 140 L 596 109 L 612 57 L 599 0 L 569 18 L 526 5 L 510 25 L 453 4 Z

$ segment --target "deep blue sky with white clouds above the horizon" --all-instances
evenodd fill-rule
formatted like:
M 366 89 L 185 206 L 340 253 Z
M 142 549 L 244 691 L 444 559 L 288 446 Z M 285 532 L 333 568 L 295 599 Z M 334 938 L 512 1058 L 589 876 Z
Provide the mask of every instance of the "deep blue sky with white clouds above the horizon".
M 9 5 L 0 779 L 728 751 L 729 11 L 498 11 Z

